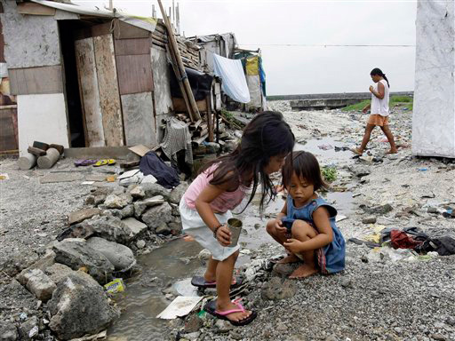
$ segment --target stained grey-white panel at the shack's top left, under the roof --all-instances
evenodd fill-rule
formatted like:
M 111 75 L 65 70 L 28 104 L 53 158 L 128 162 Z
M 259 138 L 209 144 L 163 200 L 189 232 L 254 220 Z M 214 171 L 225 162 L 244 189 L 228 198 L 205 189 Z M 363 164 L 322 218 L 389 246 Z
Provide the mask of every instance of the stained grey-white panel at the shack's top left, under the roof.
M 2 1 L 4 56 L 8 68 L 60 65 L 57 20 L 47 15 L 22 15 L 15 1 Z

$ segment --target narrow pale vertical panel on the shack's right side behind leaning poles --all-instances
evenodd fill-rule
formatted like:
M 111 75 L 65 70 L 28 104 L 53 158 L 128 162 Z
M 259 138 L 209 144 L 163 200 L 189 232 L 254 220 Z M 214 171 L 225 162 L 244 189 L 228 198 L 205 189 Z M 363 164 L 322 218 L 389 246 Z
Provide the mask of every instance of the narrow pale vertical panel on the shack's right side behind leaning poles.
M 151 48 L 153 83 L 156 108 L 156 140 L 158 143 L 164 138 L 162 120 L 172 116 L 172 97 L 170 83 L 170 69 L 164 49 L 153 45 Z

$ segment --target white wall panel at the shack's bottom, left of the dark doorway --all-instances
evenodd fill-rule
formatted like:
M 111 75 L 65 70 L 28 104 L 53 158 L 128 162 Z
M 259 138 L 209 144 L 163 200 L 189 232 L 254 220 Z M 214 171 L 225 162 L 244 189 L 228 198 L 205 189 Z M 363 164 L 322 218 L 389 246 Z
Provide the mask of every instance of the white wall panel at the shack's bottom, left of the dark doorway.
M 68 125 L 63 93 L 18 95 L 20 155 L 33 141 L 68 146 Z

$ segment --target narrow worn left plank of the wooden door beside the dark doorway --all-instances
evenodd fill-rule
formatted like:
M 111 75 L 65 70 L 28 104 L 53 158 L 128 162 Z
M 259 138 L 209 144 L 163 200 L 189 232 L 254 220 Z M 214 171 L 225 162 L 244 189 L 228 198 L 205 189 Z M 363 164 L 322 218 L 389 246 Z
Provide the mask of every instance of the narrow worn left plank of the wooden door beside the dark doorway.
M 79 91 L 81 93 L 82 107 L 84 110 L 84 124 L 86 128 L 85 146 L 104 147 L 104 131 L 93 38 L 77 40 L 75 44 Z

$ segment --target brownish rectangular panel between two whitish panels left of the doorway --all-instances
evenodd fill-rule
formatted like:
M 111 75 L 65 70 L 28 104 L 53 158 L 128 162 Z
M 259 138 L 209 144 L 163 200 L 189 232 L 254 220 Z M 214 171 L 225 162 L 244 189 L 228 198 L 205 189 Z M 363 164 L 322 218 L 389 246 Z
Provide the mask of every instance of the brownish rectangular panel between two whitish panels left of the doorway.
M 10 68 L 13 95 L 35 95 L 63 92 L 61 66 Z

